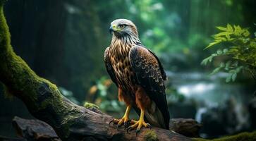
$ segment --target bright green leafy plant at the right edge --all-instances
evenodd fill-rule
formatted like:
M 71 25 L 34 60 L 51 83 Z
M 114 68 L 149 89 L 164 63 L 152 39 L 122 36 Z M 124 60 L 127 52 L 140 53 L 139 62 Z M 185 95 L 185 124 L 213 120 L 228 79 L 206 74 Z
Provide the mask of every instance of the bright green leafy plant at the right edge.
M 230 24 L 217 29 L 221 32 L 213 35 L 214 42 L 209 43 L 205 49 L 217 45 L 221 45 L 222 48 L 204 59 L 201 64 L 207 65 L 216 57 L 225 56 L 224 61 L 221 61 L 211 74 L 226 71 L 228 73 L 226 82 L 230 82 L 236 80 L 238 73 L 247 71 L 256 80 L 256 32 L 254 37 L 251 37 L 248 28 Z

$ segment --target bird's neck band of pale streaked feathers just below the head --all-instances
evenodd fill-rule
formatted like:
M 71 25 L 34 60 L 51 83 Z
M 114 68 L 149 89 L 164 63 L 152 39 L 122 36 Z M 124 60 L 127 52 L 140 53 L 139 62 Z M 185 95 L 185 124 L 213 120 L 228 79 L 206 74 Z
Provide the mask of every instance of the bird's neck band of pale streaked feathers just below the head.
M 133 45 L 140 45 L 141 42 L 138 36 L 130 36 L 130 35 L 126 35 L 122 37 L 116 37 L 116 35 L 112 36 L 112 40 L 110 44 L 111 47 L 120 47 L 120 45 L 122 44 L 133 47 Z

